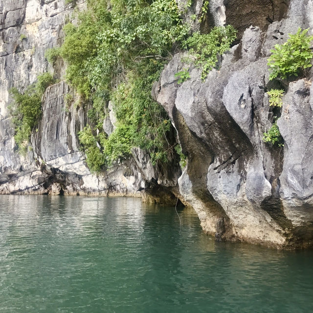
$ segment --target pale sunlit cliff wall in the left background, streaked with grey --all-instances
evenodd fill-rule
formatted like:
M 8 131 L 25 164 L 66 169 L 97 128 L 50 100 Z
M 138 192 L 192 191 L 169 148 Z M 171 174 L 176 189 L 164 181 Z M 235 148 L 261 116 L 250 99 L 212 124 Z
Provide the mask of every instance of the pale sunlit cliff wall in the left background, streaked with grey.
M 85 0 L 76 8 L 86 8 Z M 0 193 L 120 194 L 141 196 L 145 190 L 165 187 L 174 202 L 179 166 L 154 167 L 149 155 L 134 149 L 129 160 L 95 175 L 86 165 L 77 133 L 87 122 L 86 106 L 76 106 L 76 96 L 62 80 L 65 64 L 54 67 L 45 59 L 45 50 L 63 42 L 63 25 L 73 18 L 73 5 L 64 0 L 4 0 L 0 3 Z M 9 90 L 23 91 L 43 72 L 54 72 L 61 81 L 47 88 L 42 99 L 43 113 L 31 136 L 26 155 L 17 151 L 8 105 Z M 67 103 L 65 96 L 73 96 Z M 107 108 L 104 130 L 112 132 L 116 118 L 112 104 Z M 159 186 L 160 185 L 160 186 Z M 176 200 L 176 199 L 175 199 Z M 157 197 L 157 202 L 163 198 Z M 166 200 L 166 197 L 164 198 Z

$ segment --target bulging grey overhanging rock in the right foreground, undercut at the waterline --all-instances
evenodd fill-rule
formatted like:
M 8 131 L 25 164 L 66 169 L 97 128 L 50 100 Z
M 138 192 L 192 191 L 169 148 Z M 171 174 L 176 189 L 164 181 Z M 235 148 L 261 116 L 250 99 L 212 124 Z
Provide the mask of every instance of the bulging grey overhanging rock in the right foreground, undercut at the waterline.
M 313 242 L 311 82 L 285 86 L 277 122 L 285 146 L 262 141 L 273 116 L 280 115 L 265 93 L 275 87 L 268 80 L 269 50 L 299 26 L 312 28 L 312 16 L 312 1 L 291 1 L 288 16 L 267 31 L 262 23 L 247 28 L 240 45 L 223 56 L 220 70 L 211 71 L 205 82 L 192 68 L 191 78 L 177 84 L 175 73 L 184 67 L 178 54 L 154 86 L 153 95 L 171 117 L 188 156 L 179 192 L 217 239 L 278 247 Z

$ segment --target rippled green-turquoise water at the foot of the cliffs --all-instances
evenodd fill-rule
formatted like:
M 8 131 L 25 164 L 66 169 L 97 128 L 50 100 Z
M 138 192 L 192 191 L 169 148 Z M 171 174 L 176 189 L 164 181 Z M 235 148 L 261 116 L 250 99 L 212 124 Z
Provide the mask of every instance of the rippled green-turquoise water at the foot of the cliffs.
M 313 311 L 313 251 L 218 243 L 192 210 L 0 196 L 0 312 Z

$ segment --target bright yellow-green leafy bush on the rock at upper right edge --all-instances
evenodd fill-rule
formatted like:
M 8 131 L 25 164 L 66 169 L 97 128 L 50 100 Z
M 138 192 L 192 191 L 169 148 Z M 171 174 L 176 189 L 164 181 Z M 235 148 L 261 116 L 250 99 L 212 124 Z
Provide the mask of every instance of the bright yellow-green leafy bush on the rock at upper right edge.
M 301 71 L 312 66 L 313 51 L 311 42 L 313 36 L 308 36 L 308 29 L 298 29 L 295 35 L 289 34 L 289 39 L 283 45 L 275 45 L 270 50 L 272 55 L 268 58 L 270 70 L 269 80 L 276 77 L 287 78 L 298 76 Z

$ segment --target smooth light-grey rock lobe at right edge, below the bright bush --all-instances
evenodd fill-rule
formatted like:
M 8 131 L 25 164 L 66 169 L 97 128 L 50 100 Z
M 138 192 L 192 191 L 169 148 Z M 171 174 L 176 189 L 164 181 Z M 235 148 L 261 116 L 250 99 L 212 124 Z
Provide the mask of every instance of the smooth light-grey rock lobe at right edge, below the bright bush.
M 313 88 L 309 85 L 304 79 L 289 84 L 277 121 L 285 145 L 280 196 L 286 216 L 292 219 L 298 214 L 297 226 L 310 224 L 313 218 Z

